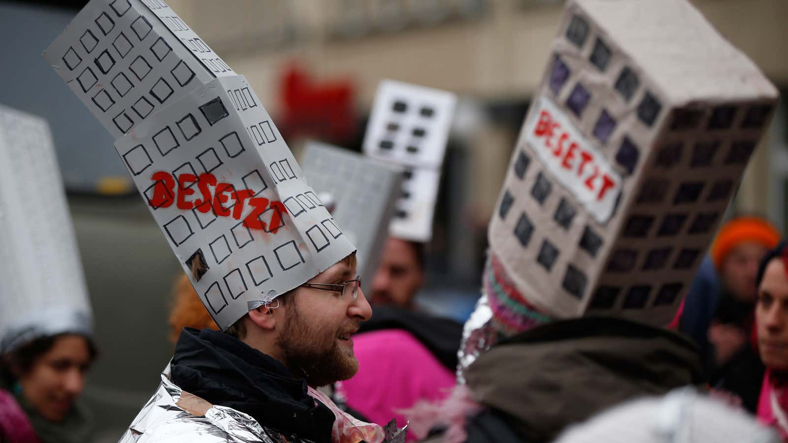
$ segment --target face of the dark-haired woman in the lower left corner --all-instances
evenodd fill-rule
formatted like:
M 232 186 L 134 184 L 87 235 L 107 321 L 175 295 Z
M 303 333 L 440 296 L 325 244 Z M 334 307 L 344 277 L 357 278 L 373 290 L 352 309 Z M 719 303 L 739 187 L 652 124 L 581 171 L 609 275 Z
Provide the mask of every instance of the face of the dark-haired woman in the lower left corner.
M 85 386 L 91 364 L 87 340 L 79 335 L 58 337 L 19 378 L 24 397 L 43 418 L 60 422 L 69 414 Z

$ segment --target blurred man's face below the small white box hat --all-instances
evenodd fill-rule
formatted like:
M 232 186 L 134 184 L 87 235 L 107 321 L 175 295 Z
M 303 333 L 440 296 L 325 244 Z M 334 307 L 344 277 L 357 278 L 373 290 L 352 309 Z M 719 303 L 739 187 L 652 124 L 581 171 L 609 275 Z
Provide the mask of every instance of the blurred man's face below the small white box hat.
M 388 237 L 371 282 L 370 303 L 415 309 L 416 292 L 424 284 L 424 259 L 423 243 Z

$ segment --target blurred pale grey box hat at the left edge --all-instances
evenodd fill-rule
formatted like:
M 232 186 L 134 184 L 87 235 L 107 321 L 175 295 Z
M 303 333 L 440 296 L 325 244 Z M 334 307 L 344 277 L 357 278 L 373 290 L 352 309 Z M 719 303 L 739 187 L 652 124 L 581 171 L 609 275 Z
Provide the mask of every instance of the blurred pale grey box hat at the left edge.
M 49 125 L 0 106 L 0 354 L 92 334 L 91 305 Z

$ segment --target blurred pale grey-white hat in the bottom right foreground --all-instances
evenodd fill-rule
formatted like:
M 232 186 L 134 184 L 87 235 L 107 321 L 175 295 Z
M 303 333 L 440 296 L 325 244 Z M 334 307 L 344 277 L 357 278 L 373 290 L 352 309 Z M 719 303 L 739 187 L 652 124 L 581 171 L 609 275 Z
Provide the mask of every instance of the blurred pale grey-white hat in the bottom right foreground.
M 622 404 L 572 426 L 555 443 L 779 443 L 742 410 L 683 388 Z

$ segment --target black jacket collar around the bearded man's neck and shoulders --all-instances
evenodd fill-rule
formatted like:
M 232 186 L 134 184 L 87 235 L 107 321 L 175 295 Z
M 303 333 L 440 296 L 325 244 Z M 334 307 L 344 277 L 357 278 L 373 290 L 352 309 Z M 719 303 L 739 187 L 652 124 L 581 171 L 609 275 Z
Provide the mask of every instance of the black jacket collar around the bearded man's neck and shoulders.
M 261 426 L 317 443 L 331 441 L 333 412 L 282 363 L 218 331 L 186 328 L 170 365 L 173 382 L 211 404 L 251 415 Z

